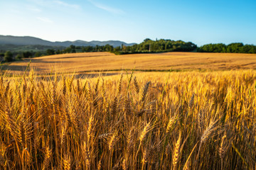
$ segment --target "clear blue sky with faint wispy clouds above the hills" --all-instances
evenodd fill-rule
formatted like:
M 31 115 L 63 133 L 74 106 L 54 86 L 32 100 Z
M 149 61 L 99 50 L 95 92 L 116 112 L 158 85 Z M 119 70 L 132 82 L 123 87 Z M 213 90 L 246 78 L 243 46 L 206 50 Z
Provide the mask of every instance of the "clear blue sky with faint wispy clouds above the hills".
M 255 0 L 0 0 L 0 35 L 256 45 Z

